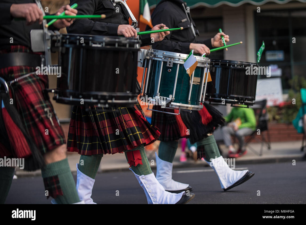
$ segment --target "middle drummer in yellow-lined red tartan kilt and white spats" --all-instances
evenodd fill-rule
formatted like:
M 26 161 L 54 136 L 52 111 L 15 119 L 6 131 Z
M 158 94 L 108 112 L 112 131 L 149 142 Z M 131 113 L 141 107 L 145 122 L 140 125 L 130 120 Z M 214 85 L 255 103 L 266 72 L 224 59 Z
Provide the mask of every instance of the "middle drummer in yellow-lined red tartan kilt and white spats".
M 108 0 L 70 1 L 71 5 L 74 3 L 78 4 L 79 14 L 105 14 L 106 18 L 78 19 L 67 28 L 68 33 L 137 36 L 136 30 L 129 25 L 129 14 L 122 4 L 113 4 Z M 152 30 L 159 30 L 161 27 L 167 28 L 165 24 L 158 24 Z M 140 39 L 142 45 L 148 45 L 152 43 L 151 40 L 155 42 L 163 40 L 169 33 L 166 31 L 142 35 Z M 68 151 L 78 152 L 81 155 L 80 164 L 76 165 L 76 188 L 80 199 L 87 204 L 95 204 L 91 199 L 91 191 L 103 154 L 124 152 L 130 169 L 144 189 L 149 204 L 185 204 L 190 201 L 194 197 L 193 193 L 166 192 L 152 173 L 144 146 L 157 140 L 160 133 L 158 128 L 146 120 L 139 103 L 133 108 L 103 108 L 103 110 L 98 112 L 95 107 L 91 107 L 86 111 L 84 107 L 73 106 L 67 146 Z

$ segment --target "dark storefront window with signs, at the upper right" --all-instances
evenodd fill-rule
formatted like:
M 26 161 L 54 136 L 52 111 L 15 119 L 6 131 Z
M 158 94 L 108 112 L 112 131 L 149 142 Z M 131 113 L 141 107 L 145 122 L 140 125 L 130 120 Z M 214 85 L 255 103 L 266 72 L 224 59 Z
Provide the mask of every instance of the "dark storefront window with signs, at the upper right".
M 306 77 L 306 9 L 262 11 L 254 15 L 256 50 L 265 42 L 260 66 L 273 67 L 272 76 L 282 78 L 286 93 L 293 76 Z

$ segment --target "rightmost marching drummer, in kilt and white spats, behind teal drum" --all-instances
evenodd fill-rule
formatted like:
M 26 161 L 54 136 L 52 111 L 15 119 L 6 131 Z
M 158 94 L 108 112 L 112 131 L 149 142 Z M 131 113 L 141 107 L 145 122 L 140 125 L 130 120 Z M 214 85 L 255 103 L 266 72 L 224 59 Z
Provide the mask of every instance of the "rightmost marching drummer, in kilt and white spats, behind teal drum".
M 225 42 L 229 41 L 229 36 L 223 32 L 217 33 L 211 39 L 197 39 L 196 35 L 199 35 L 199 32 L 187 9 L 186 2 L 182 0 L 161 0 L 157 4 L 151 16 L 153 25 L 163 21 L 171 28 L 183 27 L 184 29 L 182 31 L 172 31 L 164 40 L 154 43 L 153 49 L 184 54 L 189 54 L 191 50 L 194 50 L 195 54 L 203 55 L 206 53 L 208 55 L 212 47 L 224 45 L 222 36 L 224 36 Z M 173 109 L 161 109 L 160 106 L 153 106 L 153 109 L 174 112 Z M 184 127 L 181 124 L 184 124 L 188 129 L 188 134 L 186 130 L 182 131 L 184 132 L 183 134 L 178 132 L 180 127 Z M 221 188 L 224 190 L 240 185 L 254 175 L 248 170 L 234 171 L 230 169 L 220 155 L 212 132 L 223 124 L 222 114 L 206 103 L 204 103 L 204 107 L 200 111 L 193 111 L 192 113 L 181 112 L 178 116 L 152 112 L 152 125 L 158 127 L 161 131 L 159 136 L 161 141 L 158 151 L 159 156 L 156 155 L 156 178 L 166 190 L 175 192 L 192 189 L 188 184 L 172 179 L 172 162 L 177 150 L 178 139 L 183 137 L 189 137 L 192 143 L 196 142 L 198 158 L 201 159 L 203 157 L 214 168 Z

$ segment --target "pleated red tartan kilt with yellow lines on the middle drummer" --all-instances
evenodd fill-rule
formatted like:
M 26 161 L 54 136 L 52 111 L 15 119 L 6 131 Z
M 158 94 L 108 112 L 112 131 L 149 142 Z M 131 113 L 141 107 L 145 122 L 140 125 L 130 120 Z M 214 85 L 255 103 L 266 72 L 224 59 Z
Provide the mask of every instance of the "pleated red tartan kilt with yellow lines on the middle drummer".
M 104 111 L 103 111 L 104 110 Z M 155 142 L 159 129 L 144 116 L 139 103 L 133 108 L 97 108 L 74 105 L 67 150 L 81 155 L 114 154 Z

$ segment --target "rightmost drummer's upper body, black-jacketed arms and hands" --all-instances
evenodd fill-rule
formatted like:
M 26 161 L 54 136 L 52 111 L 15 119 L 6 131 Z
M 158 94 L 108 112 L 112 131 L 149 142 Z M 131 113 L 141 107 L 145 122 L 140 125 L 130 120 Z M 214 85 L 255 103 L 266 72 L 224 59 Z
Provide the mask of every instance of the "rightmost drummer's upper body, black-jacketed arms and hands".
M 153 49 L 184 54 L 189 54 L 191 50 L 194 50 L 194 54 L 203 55 L 206 53 L 206 55 L 209 55 L 210 49 L 224 45 L 221 36 L 224 37 L 226 42 L 230 41 L 229 35 L 223 32 L 217 33 L 210 39 L 198 39 L 199 31 L 187 10 L 186 2 L 182 0 L 160 1 L 152 13 L 151 20 L 154 21 L 154 24 L 164 21 L 163 23 L 166 23 L 170 28 L 184 28 L 181 31 L 171 31 L 170 35 L 167 35 L 162 42 L 153 44 Z M 147 29 L 149 29 L 148 26 Z

